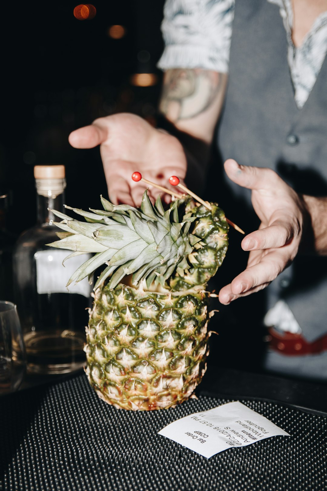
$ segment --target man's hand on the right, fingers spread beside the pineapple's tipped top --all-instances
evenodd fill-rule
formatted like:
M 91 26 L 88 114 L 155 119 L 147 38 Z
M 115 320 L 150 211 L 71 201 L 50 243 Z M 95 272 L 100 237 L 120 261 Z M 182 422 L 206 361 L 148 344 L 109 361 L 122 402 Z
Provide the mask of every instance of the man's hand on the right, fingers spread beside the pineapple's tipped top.
M 273 170 L 231 159 L 225 170 L 231 181 L 252 190 L 252 205 L 261 220 L 259 230 L 241 243 L 243 250 L 251 251 L 246 270 L 219 292 L 220 302 L 228 304 L 262 290 L 293 261 L 310 218 L 303 197 Z

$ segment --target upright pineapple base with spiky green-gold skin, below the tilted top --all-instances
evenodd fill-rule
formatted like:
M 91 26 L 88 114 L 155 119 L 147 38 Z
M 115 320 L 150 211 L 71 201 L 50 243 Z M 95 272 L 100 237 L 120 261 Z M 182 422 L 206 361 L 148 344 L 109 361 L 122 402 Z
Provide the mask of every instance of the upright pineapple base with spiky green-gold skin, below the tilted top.
M 208 293 L 154 293 L 123 284 L 95 293 L 86 373 L 116 408 L 168 409 L 190 397 L 206 369 Z

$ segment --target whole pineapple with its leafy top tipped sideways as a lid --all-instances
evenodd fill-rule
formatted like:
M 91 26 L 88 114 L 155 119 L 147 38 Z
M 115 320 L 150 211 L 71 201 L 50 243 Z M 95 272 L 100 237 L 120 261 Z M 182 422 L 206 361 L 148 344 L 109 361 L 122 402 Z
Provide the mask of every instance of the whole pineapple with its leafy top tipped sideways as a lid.
M 206 368 L 209 293 L 206 283 L 226 254 L 224 212 L 196 206 L 190 198 L 164 210 L 145 191 L 140 209 L 66 207 L 85 218 L 53 211 L 66 259 L 93 252 L 67 287 L 101 265 L 86 327 L 86 374 L 99 397 L 116 408 L 175 407 L 188 399 Z M 181 219 L 180 219 L 181 217 Z

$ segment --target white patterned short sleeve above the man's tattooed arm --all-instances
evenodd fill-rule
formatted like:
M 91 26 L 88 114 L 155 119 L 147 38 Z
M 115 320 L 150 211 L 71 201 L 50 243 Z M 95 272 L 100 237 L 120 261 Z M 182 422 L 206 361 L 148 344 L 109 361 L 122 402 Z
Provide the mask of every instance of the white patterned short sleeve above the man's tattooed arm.
M 158 68 L 227 73 L 235 0 L 166 0 Z

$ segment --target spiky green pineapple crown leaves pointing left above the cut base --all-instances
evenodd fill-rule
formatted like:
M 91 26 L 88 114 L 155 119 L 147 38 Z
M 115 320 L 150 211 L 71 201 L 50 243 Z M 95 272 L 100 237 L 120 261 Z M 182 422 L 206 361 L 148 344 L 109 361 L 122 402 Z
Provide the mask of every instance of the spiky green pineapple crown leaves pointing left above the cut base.
M 99 276 L 95 290 L 107 278 L 110 278 L 109 288 L 114 288 L 129 274 L 132 274 L 133 285 L 146 280 L 147 288 L 154 283 L 165 288 L 180 289 L 182 286 L 185 289 L 207 281 L 207 277 L 202 281 L 202 277 L 193 274 L 195 265 L 200 266 L 196 259 L 197 248 L 205 244 L 201 241 L 201 235 L 190 233 L 192 222 L 199 218 L 199 214 L 200 221 L 196 223 L 201 222 L 201 210 L 197 209 L 199 213 L 195 214 L 194 203 L 189 198 L 174 201 L 166 211 L 160 197 L 152 205 L 147 191 L 143 194 L 140 209 L 113 205 L 102 196 L 101 204 L 103 210 L 90 211 L 66 206 L 66 209 L 74 211 L 86 221 L 52 210 L 55 216 L 61 218 L 54 224 L 63 232 L 57 233 L 60 240 L 47 245 L 72 250 L 73 253 L 66 259 L 85 252 L 94 253 L 71 276 L 67 287 L 86 276 L 92 277 L 104 264 L 106 268 Z M 180 210 L 183 210 L 181 221 L 178 217 Z M 226 227 L 227 230 L 227 224 Z M 222 235 L 225 237 L 226 233 Z M 214 269 L 213 274 L 217 268 Z M 180 281 L 172 283 L 175 277 L 183 279 L 182 285 Z

